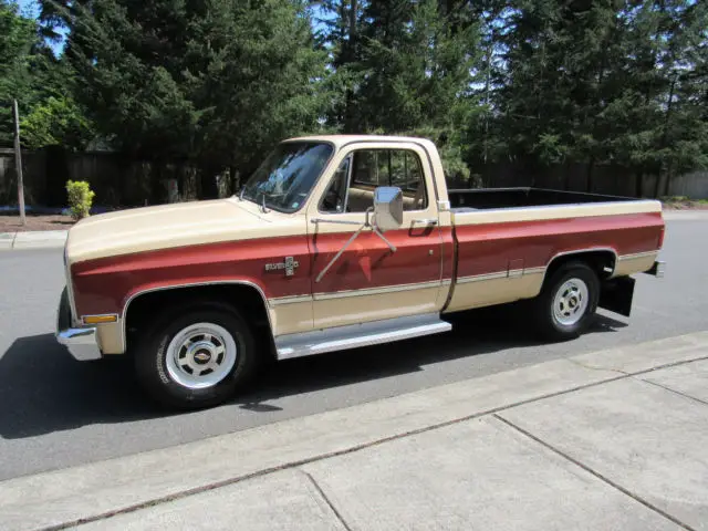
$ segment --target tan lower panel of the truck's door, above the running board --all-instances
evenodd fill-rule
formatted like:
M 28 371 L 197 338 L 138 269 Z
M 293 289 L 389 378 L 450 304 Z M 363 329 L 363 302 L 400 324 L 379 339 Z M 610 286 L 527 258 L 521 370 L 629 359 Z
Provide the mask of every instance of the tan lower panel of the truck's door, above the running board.
M 431 313 L 439 310 L 436 302 L 439 289 L 412 289 L 386 294 L 315 301 L 314 317 L 317 326 L 330 327 Z

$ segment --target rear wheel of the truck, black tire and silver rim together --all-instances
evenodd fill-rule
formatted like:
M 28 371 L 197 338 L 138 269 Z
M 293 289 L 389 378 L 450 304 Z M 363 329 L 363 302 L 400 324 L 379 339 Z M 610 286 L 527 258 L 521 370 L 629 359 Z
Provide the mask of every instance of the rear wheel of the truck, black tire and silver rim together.
M 577 337 L 592 323 L 600 300 L 597 274 L 583 262 L 561 266 L 544 283 L 533 316 L 546 340 Z

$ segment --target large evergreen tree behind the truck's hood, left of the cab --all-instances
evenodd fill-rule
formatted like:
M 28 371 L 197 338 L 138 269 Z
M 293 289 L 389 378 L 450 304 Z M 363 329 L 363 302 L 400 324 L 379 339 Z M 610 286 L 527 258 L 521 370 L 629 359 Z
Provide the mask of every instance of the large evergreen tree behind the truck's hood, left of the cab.
M 76 97 L 129 157 L 248 171 L 283 136 L 312 131 L 324 56 L 300 1 L 43 2 L 69 30 Z M 154 187 L 156 188 L 156 187 Z

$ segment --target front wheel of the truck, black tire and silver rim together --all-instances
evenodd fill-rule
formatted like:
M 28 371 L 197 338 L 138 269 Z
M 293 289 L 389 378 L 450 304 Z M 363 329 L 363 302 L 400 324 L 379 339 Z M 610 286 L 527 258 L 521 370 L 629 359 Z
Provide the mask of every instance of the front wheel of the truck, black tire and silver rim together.
M 254 346 L 253 334 L 235 310 L 185 309 L 138 340 L 137 376 L 167 406 L 214 406 L 251 378 L 257 366 Z

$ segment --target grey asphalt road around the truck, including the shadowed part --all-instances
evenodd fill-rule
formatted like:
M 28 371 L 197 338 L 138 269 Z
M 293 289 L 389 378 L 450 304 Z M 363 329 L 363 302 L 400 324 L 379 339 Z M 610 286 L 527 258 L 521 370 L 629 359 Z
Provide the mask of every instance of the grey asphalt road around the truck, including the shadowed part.
M 629 320 L 603 314 L 573 342 L 538 344 L 522 316 L 469 312 L 449 334 L 282 362 L 225 406 L 166 415 L 128 363 L 75 362 L 54 342 L 59 250 L 0 251 L 0 480 L 708 329 L 708 216 L 669 220 L 662 257 L 667 277 L 637 278 Z

